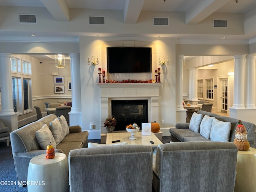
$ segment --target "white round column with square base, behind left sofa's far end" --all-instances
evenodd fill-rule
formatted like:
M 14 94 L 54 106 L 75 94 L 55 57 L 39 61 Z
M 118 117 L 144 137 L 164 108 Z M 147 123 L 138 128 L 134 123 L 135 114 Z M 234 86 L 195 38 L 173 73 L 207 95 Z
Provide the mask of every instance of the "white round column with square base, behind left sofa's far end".
M 69 112 L 69 124 L 82 126 L 82 102 L 80 81 L 80 54 L 70 53 L 72 108 Z

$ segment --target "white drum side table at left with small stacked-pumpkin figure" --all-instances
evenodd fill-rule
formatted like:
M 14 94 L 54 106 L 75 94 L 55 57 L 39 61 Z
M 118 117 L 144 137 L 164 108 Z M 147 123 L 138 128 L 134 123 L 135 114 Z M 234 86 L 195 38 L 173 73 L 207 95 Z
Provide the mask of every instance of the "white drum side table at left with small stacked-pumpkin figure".
M 28 192 L 68 192 L 68 158 L 56 153 L 55 158 L 46 159 L 45 154 L 30 160 L 28 165 Z

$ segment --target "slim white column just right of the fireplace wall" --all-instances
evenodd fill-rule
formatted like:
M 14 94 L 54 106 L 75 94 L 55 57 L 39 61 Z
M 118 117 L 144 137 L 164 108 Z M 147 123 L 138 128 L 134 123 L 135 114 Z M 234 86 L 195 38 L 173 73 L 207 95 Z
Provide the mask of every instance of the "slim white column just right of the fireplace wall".
M 182 105 L 184 55 L 176 55 L 176 110 L 184 109 Z

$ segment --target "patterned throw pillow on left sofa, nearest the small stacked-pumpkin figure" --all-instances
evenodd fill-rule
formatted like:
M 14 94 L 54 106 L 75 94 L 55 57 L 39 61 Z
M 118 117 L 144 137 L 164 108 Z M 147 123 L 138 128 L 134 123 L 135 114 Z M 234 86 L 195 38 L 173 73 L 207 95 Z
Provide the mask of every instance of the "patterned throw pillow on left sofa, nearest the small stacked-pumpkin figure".
M 36 131 L 36 139 L 42 149 L 47 149 L 47 146 L 50 142 L 52 144 L 52 147 L 56 148 L 55 139 L 46 124 L 44 124 L 44 126 L 42 126 L 40 130 Z

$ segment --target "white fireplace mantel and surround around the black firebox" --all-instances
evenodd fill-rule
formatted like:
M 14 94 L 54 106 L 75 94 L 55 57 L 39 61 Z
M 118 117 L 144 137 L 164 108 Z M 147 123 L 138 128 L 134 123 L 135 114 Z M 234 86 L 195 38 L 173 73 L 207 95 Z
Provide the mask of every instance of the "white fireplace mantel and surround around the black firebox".
M 111 114 L 111 100 L 148 99 L 148 121 L 158 122 L 159 96 L 162 83 L 98 83 L 101 100 L 101 132 L 104 120 Z

